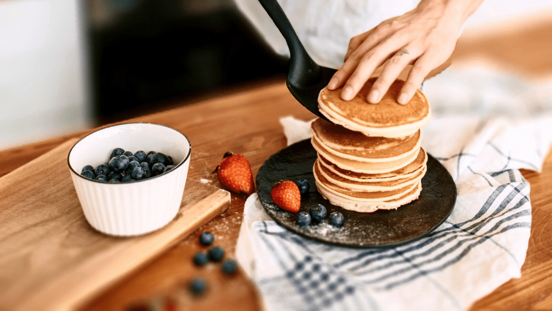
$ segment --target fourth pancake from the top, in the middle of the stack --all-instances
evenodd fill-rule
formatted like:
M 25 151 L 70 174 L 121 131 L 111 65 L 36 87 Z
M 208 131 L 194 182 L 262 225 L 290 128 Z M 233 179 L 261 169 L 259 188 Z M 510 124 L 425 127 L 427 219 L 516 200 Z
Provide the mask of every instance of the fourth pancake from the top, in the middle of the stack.
M 381 173 L 381 174 L 364 174 L 364 173 L 357 173 L 353 172 L 352 170 L 346 170 L 339 168 L 336 164 L 331 163 L 329 160 L 324 158 L 322 155 L 318 155 L 318 159 L 320 164 L 329 169 L 332 173 L 337 174 L 339 177 L 353 180 L 356 182 L 366 182 L 368 180 L 372 182 L 384 182 L 387 180 L 395 180 L 395 179 L 401 179 L 401 178 L 408 178 L 412 175 L 415 175 L 423 170 L 423 168 L 426 166 L 427 163 L 427 154 L 423 150 L 423 148 L 420 148 L 420 152 L 418 153 L 418 156 L 415 160 L 408 163 L 403 168 L 394 170 L 392 172 L 388 173 Z

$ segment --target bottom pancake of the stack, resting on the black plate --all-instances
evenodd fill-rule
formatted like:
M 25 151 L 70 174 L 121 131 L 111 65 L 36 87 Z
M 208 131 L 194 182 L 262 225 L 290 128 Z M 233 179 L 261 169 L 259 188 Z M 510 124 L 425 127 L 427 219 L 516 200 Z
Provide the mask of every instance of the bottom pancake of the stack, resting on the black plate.
M 318 182 L 315 181 L 315 183 L 319 193 L 323 196 L 323 198 L 325 198 L 326 200 L 329 200 L 331 204 L 341 206 L 346 210 L 352 210 L 352 211 L 358 211 L 358 212 L 374 212 L 378 209 L 383 209 L 383 210 L 396 209 L 396 208 L 399 208 L 399 206 L 401 205 L 408 204 L 411 201 L 418 199 L 418 196 L 420 196 L 420 193 L 422 191 L 422 184 L 420 183 L 412 191 L 406 193 L 405 195 L 397 199 L 381 201 L 381 202 L 359 202 L 351 199 L 346 199 L 346 198 L 343 198 L 342 196 L 330 193 L 326 191 L 323 188 L 323 186 L 321 186 Z

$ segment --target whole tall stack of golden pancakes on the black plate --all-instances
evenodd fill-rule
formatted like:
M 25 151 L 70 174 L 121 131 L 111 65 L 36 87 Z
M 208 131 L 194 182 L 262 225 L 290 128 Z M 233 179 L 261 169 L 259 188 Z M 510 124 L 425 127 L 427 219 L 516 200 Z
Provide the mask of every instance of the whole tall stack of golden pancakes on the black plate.
M 359 212 L 396 209 L 420 195 L 427 154 L 420 147 L 420 127 L 429 118 L 421 91 L 406 105 L 395 101 L 402 81 L 395 81 L 380 103 L 365 98 L 374 80 L 351 101 L 340 89 L 323 89 L 320 112 L 333 123 L 312 122 L 316 188 L 333 205 Z

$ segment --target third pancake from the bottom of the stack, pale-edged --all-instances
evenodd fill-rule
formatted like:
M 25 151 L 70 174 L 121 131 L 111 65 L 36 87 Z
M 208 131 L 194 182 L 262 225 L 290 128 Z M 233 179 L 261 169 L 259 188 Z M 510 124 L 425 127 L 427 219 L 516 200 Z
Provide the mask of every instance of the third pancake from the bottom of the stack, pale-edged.
M 426 170 L 427 170 L 427 167 L 423 167 L 423 169 L 420 170 L 420 172 L 418 172 L 415 175 L 412 175 L 411 177 L 388 180 L 385 182 L 372 182 L 372 181 L 355 182 L 352 180 L 339 177 L 337 174 L 331 172 L 326 167 L 321 165 L 319 160 L 316 160 L 315 163 L 318 167 L 318 172 L 324 178 L 326 178 L 328 182 L 330 182 L 333 185 L 337 185 L 351 191 L 392 191 L 396 189 L 401 189 L 408 185 L 412 185 L 414 183 L 420 182 L 423 175 L 426 174 Z

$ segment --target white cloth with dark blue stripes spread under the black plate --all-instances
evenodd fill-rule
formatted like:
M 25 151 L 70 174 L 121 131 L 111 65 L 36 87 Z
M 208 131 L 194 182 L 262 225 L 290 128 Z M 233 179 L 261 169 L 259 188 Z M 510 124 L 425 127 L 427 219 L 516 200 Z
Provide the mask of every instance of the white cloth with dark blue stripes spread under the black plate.
M 473 72 L 448 71 L 425 86 L 439 116 L 422 129 L 422 146 L 452 174 L 458 200 L 447 221 L 419 241 L 359 250 L 304 239 L 272 221 L 257 195 L 251 195 L 236 256 L 257 284 L 264 307 L 269 311 L 464 310 L 508 279 L 520 277 L 531 205 L 529 184 L 518 169 L 541 169 L 552 142 L 552 118 L 493 116 L 497 106 L 482 102 L 484 97 L 478 95 L 488 95 L 492 86 L 500 99 L 532 87 L 513 78 L 507 79 L 517 81 L 514 91 L 512 84 L 497 87 L 499 78 L 506 79 L 492 72 L 477 76 L 479 91 L 474 91 L 469 87 L 474 84 Z M 476 115 L 459 112 L 460 101 L 455 100 L 454 113 L 447 114 L 447 100 L 438 96 L 446 85 L 470 91 L 466 105 L 479 100 L 491 108 L 479 109 Z M 516 98 L 502 106 L 496 101 L 499 110 L 512 115 L 527 105 L 523 97 Z M 547 107 L 541 112 L 550 108 L 541 104 Z M 290 121 L 282 120 L 285 133 L 304 132 L 309 126 Z M 290 125 L 294 122 L 296 126 Z

